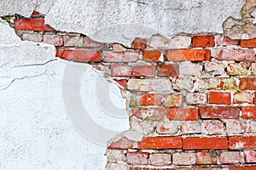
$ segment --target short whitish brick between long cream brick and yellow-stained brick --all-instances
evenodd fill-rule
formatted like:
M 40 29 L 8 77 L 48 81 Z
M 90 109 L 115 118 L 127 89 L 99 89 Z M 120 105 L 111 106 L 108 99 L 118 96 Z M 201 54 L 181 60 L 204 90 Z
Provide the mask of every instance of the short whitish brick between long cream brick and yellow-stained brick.
M 189 78 L 175 77 L 172 80 L 172 88 L 176 90 L 191 90 L 194 87 L 194 82 Z

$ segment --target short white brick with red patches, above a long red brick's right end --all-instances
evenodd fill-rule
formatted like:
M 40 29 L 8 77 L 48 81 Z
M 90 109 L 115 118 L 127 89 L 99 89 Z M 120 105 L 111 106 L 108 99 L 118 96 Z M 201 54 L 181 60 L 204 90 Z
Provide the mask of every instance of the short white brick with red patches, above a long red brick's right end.
M 164 121 L 158 123 L 156 132 L 159 134 L 174 134 L 177 133 L 177 122 Z

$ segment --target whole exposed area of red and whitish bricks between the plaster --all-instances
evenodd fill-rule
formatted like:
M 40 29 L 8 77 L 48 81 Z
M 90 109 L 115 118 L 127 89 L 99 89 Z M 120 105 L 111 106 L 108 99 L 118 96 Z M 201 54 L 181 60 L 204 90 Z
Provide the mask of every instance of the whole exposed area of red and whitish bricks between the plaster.
M 131 128 L 108 144 L 108 169 L 256 169 L 256 38 L 154 35 L 131 48 L 55 31 L 44 14 L 16 15 L 23 39 L 55 45 L 56 57 L 105 71 L 131 93 Z

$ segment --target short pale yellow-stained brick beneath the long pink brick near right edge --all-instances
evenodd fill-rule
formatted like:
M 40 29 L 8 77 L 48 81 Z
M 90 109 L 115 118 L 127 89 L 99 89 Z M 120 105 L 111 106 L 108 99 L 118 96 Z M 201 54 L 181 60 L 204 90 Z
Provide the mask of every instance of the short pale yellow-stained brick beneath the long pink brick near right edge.
M 230 63 L 227 66 L 227 73 L 231 76 L 241 76 L 247 74 L 246 63 Z

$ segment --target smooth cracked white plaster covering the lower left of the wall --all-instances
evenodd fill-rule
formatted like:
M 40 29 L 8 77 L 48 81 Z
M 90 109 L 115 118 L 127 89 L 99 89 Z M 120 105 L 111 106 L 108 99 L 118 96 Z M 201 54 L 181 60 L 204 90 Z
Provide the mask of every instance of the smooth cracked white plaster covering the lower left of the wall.
M 71 120 L 70 105 L 64 102 L 63 95 L 73 93 L 63 88 L 67 65 L 79 65 L 55 59 L 53 46 L 20 41 L 2 20 L 3 34 L 9 36 L 0 40 L 0 169 L 104 169 L 107 141 L 96 144 L 84 136 Z M 82 105 L 96 125 L 113 130 L 113 136 L 127 129 L 128 118 L 108 116 L 112 113 L 106 113 L 108 109 L 97 99 L 100 73 L 83 65 L 81 75 Z M 119 88 L 101 83 L 109 87 L 113 104 L 124 109 Z M 85 123 L 82 127 L 96 133 L 96 127 Z M 97 134 L 102 136 L 102 132 Z

